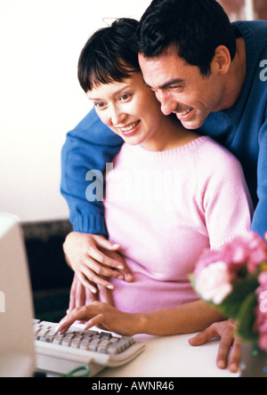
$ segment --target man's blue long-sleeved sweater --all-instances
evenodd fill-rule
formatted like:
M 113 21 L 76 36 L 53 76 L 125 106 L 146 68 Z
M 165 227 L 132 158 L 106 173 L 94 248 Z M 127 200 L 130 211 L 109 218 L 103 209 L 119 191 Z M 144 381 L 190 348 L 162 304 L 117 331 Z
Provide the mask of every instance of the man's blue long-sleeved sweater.
M 252 229 L 263 236 L 267 231 L 267 21 L 234 25 L 246 41 L 246 83 L 235 105 L 211 113 L 198 133 L 211 136 L 239 158 L 255 205 Z M 69 205 L 73 230 L 108 237 L 101 202 L 86 200 L 85 178 L 93 169 L 104 172 L 122 144 L 94 109 L 67 134 L 61 154 L 61 193 Z

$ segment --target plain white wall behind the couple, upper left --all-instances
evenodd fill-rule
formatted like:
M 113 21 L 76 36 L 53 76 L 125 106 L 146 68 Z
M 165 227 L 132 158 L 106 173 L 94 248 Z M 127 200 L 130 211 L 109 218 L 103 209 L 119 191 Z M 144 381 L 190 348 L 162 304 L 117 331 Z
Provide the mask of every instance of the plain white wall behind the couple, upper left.
M 89 101 L 77 60 L 103 18 L 140 19 L 150 0 L 0 0 L 0 211 L 67 219 L 61 147 Z

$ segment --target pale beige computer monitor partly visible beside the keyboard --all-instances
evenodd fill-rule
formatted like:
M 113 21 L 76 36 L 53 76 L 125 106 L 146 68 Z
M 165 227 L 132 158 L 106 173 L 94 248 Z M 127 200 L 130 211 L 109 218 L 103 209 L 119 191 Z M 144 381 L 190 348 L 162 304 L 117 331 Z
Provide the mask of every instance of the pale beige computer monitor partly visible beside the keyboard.
M 0 212 L 0 377 L 35 371 L 33 298 L 18 219 Z

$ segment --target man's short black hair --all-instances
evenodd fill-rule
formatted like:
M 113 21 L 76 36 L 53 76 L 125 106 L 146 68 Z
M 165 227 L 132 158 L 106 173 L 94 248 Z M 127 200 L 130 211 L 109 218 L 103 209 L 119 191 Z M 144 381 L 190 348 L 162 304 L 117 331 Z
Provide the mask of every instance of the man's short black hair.
M 231 60 L 236 39 L 223 7 L 215 0 L 153 0 L 137 29 L 138 49 L 146 58 L 163 53 L 171 44 L 190 65 L 207 76 L 215 49 L 225 45 Z

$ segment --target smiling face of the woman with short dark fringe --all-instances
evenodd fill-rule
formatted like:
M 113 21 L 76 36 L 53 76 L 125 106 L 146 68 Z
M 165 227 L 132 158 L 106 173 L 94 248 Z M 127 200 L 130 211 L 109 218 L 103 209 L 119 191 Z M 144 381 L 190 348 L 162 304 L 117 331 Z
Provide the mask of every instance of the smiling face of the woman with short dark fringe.
M 142 73 L 123 82 L 99 85 L 87 95 L 101 121 L 132 145 L 153 138 L 165 119 L 155 94 L 144 85 Z

